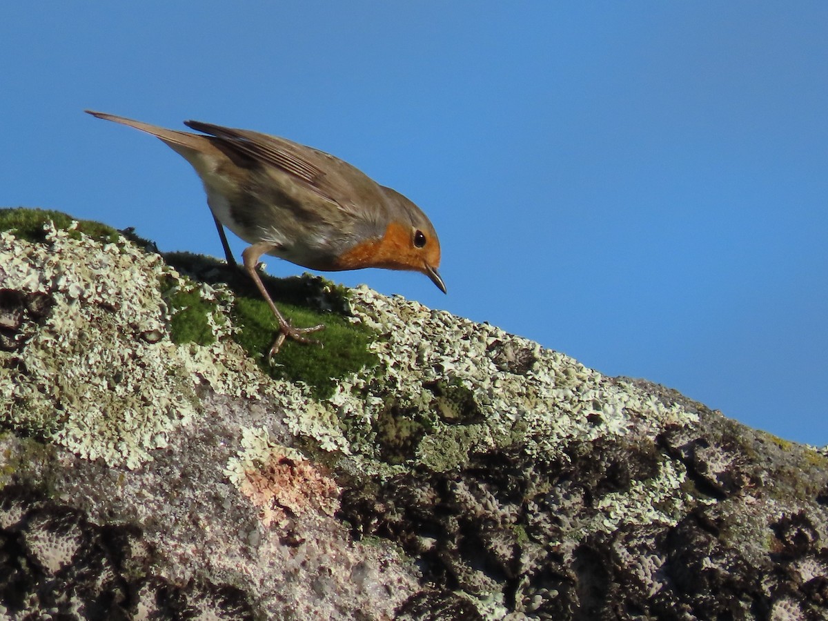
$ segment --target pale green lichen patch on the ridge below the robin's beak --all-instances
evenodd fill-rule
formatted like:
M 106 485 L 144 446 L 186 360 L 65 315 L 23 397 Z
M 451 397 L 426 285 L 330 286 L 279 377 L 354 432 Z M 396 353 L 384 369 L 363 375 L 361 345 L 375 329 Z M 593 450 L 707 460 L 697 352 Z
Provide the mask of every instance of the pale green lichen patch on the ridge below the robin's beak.
M 365 286 L 356 289 L 353 298 L 355 320 L 383 335 L 372 345 L 380 359 L 378 368 L 345 378 L 327 400 L 336 407 L 344 428 L 357 433 L 349 436 L 354 452 L 375 456 L 373 431 L 389 395 L 407 407 L 420 408 L 418 416 L 427 433 L 412 460 L 438 470 L 459 465 L 471 450 L 517 443 L 543 460 L 566 461 L 564 449 L 574 439 L 628 436 L 633 421 L 639 434 L 643 430 L 655 437 L 665 426 L 697 420 L 696 414 L 678 405 L 665 407 L 631 384 L 604 378 L 564 354 L 492 325 L 429 310 L 401 297 L 387 298 Z M 523 352 L 534 362 L 522 373 L 511 373 L 498 359 L 503 351 L 511 359 Z M 456 411 L 445 416 L 440 397 L 423 397 L 424 386 L 434 383 L 468 392 L 472 406 L 466 407 L 474 409 L 471 424 L 456 424 L 452 416 L 465 416 Z M 466 398 L 457 397 L 455 407 Z M 642 420 L 647 423 L 642 425 Z M 388 472 L 382 467 L 370 470 Z

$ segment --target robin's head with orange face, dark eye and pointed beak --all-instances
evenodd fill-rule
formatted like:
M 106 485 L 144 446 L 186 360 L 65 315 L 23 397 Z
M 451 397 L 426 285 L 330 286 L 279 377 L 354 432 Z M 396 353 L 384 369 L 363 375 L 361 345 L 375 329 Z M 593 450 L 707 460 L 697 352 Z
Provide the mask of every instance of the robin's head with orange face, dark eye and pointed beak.
M 440 267 L 440 239 L 431 220 L 411 200 L 383 187 L 388 198 L 388 224 L 381 238 L 357 243 L 339 258 L 342 269 L 383 267 L 422 272 L 445 293 Z

